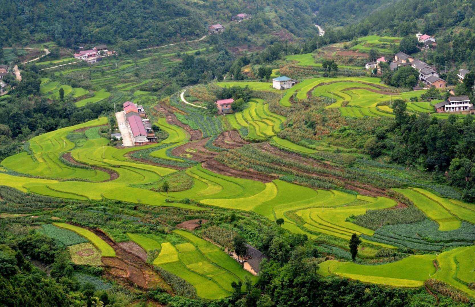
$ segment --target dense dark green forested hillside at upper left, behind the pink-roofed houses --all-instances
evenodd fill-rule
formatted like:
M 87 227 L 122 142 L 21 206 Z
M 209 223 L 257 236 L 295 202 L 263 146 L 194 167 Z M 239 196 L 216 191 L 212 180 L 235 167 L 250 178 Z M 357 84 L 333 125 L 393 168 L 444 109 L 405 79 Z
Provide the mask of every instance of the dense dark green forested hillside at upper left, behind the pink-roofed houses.
M 245 27 L 249 33 L 284 28 L 306 36 L 315 31 L 312 9 L 304 0 L 0 0 L 0 43 L 27 45 L 54 40 L 70 47 L 129 41 L 144 47 L 199 38 L 209 25 L 226 25 L 239 13 L 252 14 Z

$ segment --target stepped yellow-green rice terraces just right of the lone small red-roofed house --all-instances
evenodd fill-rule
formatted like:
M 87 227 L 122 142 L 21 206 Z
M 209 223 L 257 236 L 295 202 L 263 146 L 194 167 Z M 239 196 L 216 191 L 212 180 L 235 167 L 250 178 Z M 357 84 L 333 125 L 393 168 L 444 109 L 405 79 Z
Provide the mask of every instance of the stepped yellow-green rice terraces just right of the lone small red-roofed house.
M 263 99 L 251 99 L 248 107 L 241 112 L 226 115 L 233 129 L 247 127 L 247 139 L 265 140 L 276 135 L 281 130 L 285 117 L 269 111 L 268 104 Z

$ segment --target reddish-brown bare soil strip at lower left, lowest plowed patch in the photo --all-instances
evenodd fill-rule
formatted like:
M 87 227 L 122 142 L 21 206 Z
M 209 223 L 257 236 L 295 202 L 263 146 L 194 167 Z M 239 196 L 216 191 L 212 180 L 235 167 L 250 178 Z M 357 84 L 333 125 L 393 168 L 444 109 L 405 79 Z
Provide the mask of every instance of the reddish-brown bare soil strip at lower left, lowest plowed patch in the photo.
M 109 244 L 115 251 L 116 257 L 103 257 L 102 262 L 110 270 L 106 271 L 105 275 L 112 275 L 115 278 L 126 281 L 129 284 L 137 285 L 142 289 L 152 289 L 161 287 L 166 289 L 169 293 L 172 292 L 170 286 L 160 277 L 160 275 L 153 271 L 153 269 L 146 264 L 140 257 L 133 253 L 128 252 L 120 244 L 114 243 L 107 235 L 105 235 L 100 229 L 90 229 L 107 244 Z M 127 244 L 126 246 L 128 246 Z M 128 246 L 130 247 L 130 246 Z M 118 269 L 121 271 L 113 270 Z M 123 272 L 126 272 L 124 276 Z

